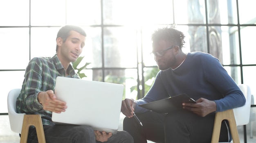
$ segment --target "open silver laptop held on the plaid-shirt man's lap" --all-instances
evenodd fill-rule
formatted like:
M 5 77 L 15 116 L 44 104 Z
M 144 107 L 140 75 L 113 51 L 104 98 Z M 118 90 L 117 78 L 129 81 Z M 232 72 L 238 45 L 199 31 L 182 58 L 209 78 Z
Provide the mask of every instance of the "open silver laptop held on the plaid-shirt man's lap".
M 62 113 L 52 113 L 56 124 L 88 125 L 116 134 L 124 86 L 58 76 L 54 93 L 67 103 Z

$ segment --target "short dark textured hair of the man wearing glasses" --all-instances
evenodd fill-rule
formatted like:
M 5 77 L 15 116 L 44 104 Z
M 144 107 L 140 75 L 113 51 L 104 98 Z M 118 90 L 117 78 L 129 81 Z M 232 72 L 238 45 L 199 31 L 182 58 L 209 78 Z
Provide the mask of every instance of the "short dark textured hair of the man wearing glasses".
M 181 31 L 174 28 L 175 25 L 171 25 L 170 27 L 158 28 L 155 30 L 151 36 L 153 44 L 158 44 L 160 40 L 164 40 L 176 44 L 182 48 L 185 43 L 185 36 Z

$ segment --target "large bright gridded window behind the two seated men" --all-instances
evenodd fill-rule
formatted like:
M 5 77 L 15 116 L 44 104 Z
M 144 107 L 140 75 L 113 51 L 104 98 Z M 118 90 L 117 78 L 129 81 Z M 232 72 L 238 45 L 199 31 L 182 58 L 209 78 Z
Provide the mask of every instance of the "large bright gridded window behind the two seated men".
M 125 85 L 124 98 L 142 98 L 158 72 L 151 33 L 177 24 L 183 51 L 217 57 L 237 84 L 256 95 L 255 0 L 0 0 L 0 113 L 7 94 L 21 88 L 29 60 L 54 56 L 60 26 L 87 33 L 84 80 Z

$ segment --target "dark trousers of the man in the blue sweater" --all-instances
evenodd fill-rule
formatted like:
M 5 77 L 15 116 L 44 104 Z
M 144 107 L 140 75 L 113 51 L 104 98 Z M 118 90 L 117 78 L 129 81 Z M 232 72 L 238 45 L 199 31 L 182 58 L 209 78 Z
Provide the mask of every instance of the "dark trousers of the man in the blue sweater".
M 124 130 L 132 135 L 134 143 L 147 143 L 146 140 L 156 143 L 211 142 L 215 113 L 199 117 L 182 109 L 168 114 L 149 111 L 136 115 L 143 126 L 134 117 L 126 117 L 123 124 Z M 228 130 L 224 124 L 220 131 L 220 141 L 227 142 Z

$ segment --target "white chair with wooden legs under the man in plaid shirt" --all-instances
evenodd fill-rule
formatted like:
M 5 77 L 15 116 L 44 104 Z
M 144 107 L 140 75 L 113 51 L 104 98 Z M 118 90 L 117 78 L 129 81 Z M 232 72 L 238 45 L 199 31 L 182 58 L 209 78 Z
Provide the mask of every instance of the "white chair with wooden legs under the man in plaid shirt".
M 25 113 L 18 114 L 16 112 L 16 99 L 20 93 L 20 90 L 21 89 L 12 89 L 11 91 L 9 91 L 7 98 L 8 115 L 11 130 L 13 132 L 21 134 L 20 143 L 27 143 L 29 126 L 35 126 L 38 143 L 46 143 L 41 116 L 26 115 Z

